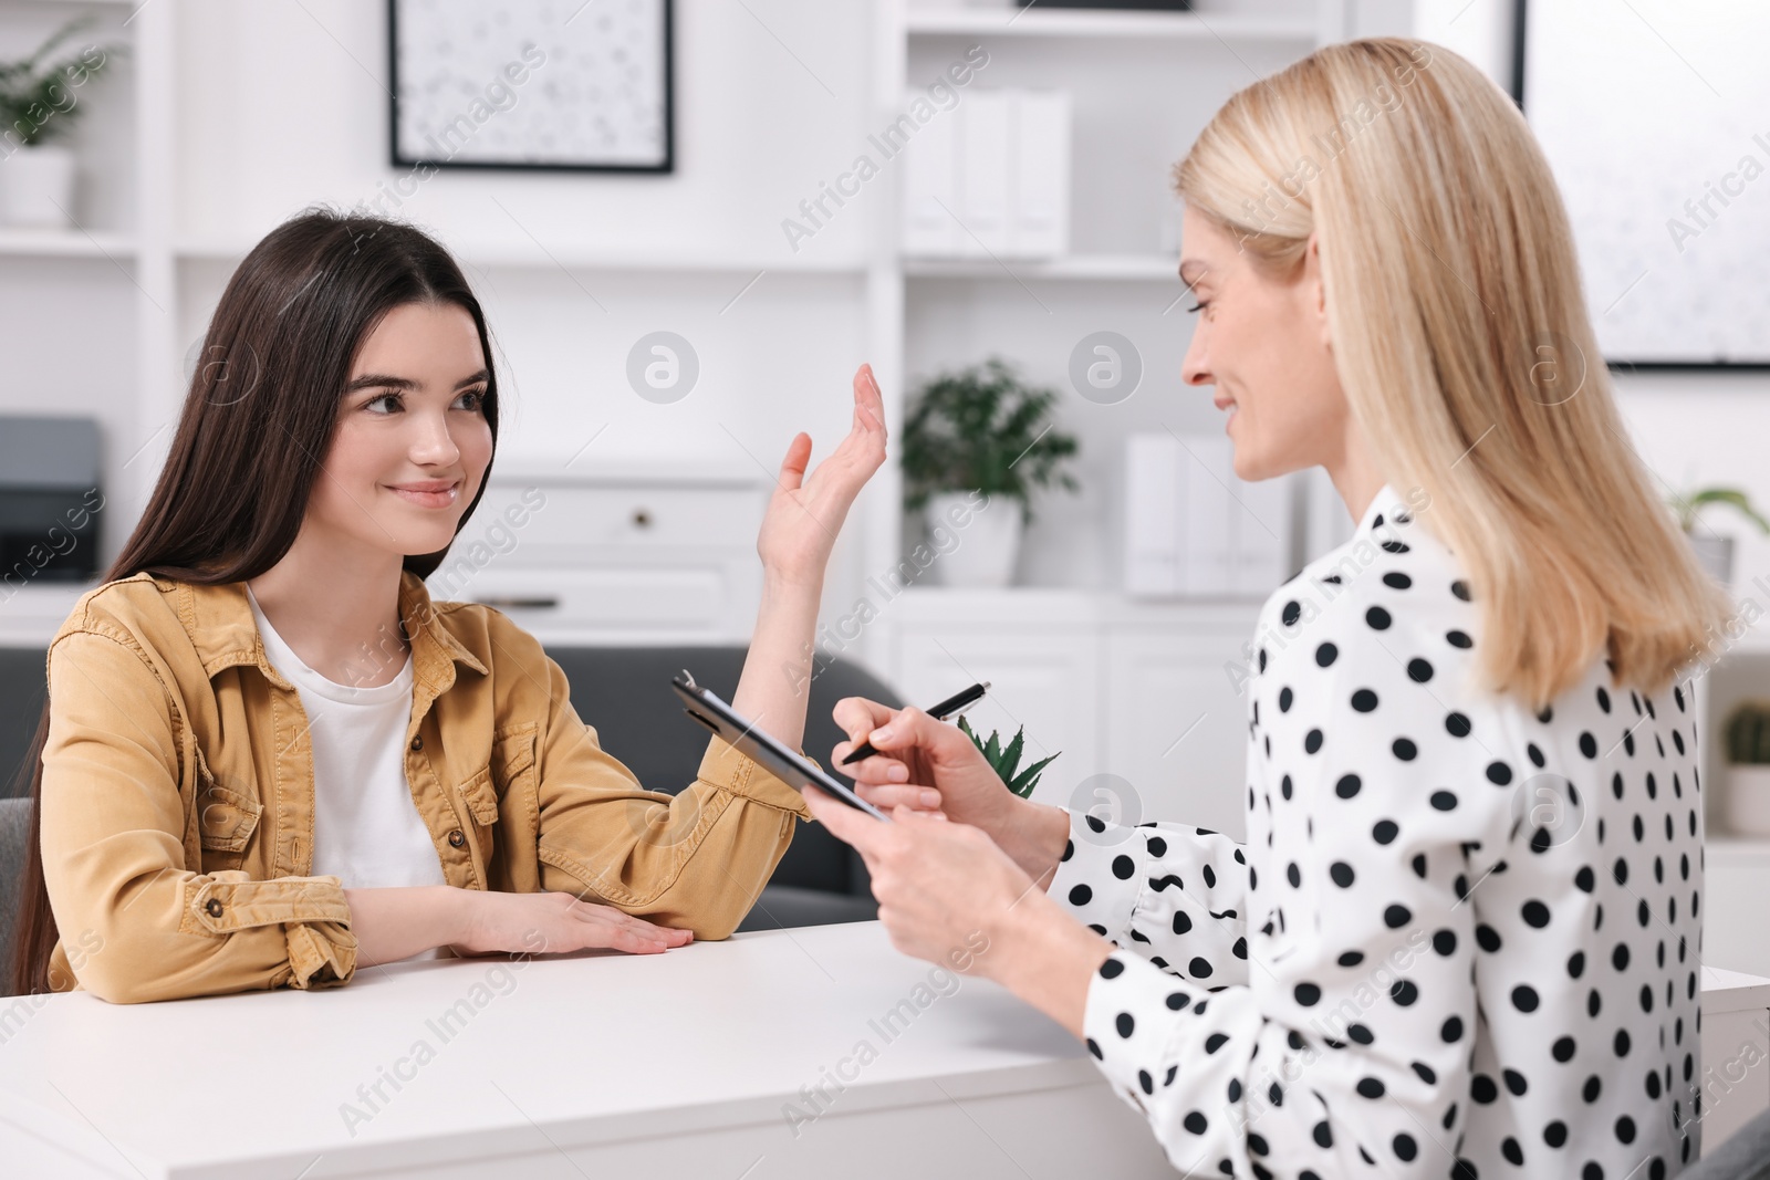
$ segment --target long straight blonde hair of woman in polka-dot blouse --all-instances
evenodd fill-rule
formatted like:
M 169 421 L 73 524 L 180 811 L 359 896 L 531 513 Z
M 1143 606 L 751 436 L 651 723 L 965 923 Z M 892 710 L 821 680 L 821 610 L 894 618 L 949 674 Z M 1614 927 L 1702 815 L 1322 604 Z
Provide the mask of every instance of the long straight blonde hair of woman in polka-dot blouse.
M 1733 614 L 1628 444 L 1549 165 L 1443 46 L 1352 41 L 1235 94 L 1179 196 L 1294 274 L 1317 235 L 1372 458 L 1423 490 L 1481 610 L 1478 676 L 1540 709 L 1604 649 L 1664 688 Z

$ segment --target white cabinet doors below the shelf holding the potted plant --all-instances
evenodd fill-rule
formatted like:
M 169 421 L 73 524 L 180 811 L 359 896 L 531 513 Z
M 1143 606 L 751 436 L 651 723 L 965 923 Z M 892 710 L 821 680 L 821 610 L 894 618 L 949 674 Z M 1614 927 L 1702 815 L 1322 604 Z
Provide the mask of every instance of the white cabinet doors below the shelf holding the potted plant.
M 1241 837 L 1246 701 L 1227 665 L 1253 601 L 1140 603 L 1051 589 L 912 589 L 880 626 L 887 681 L 929 706 L 975 681 L 974 729 L 1027 727 L 1034 798 L 1129 823 L 1179 819 Z M 1099 810 L 1096 810 L 1099 808 Z

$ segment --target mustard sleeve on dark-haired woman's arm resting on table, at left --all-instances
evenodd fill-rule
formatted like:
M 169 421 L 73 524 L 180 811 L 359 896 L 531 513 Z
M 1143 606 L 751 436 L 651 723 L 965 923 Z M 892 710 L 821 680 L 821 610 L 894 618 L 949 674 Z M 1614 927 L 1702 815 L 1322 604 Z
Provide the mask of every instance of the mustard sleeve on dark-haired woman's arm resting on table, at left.
M 338 877 L 189 867 L 198 801 L 179 791 L 179 713 L 127 633 L 57 637 L 48 681 L 42 874 L 62 945 L 78 946 L 74 978 L 51 985 L 138 1003 L 352 977 Z

